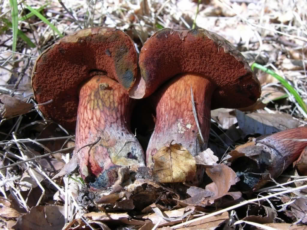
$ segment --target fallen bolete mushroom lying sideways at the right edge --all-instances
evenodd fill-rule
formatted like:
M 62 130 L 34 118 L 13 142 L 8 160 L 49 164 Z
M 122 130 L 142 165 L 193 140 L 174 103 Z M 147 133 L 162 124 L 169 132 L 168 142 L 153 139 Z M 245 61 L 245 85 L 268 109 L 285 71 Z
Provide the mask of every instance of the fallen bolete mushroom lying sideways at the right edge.
M 307 127 L 286 129 L 253 138 L 230 152 L 228 161 L 240 181 L 240 190 L 256 191 L 272 178 L 277 178 L 287 167 L 304 158 L 307 146 Z

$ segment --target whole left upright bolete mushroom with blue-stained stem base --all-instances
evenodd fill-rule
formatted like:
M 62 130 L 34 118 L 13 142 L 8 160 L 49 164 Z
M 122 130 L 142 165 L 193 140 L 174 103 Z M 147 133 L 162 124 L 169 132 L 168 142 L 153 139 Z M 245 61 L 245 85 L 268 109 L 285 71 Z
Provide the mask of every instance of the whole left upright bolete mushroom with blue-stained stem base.
M 80 173 L 96 189 L 112 185 L 120 166 L 144 166 L 144 153 L 130 131 L 137 75 L 133 41 L 118 29 L 82 29 L 37 58 L 32 87 L 46 117 L 76 127 Z

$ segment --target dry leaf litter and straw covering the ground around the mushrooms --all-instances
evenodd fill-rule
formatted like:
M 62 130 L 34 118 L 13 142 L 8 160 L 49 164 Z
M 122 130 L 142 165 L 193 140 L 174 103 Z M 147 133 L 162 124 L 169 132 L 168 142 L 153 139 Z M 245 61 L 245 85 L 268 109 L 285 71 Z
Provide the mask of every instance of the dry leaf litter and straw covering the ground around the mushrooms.
M 27 1 L 27 4 L 33 8 L 39 8 L 45 3 Z M 66 9 L 58 1 L 50 1 L 48 4 L 44 15 L 61 33 L 70 34 L 80 27 L 88 26 L 117 27 L 131 36 L 138 50 L 160 26 L 190 29 L 197 7 L 196 2 L 188 0 L 66 1 L 63 3 Z M 18 4 L 19 17 L 27 13 L 25 8 L 23 2 Z M 1 12 L 1 17 L 10 20 L 8 1 L 3 2 Z M 262 65 L 273 64 L 274 71 L 287 79 L 306 102 L 306 12 L 305 1 L 297 1 L 294 4 L 280 1 L 212 0 L 200 4 L 196 25 L 219 33 L 230 40 L 250 63 L 256 60 Z M 1 23 L 5 25 L 4 21 Z M 286 182 L 278 184 L 276 180 L 276 183 L 268 185 L 270 186 L 268 189 L 259 190 L 261 195 L 274 193 L 271 198 L 265 198 L 267 202 L 264 202 L 265 199 L 257 200 L 257 191 L 249 196 L 237 193 L 238 191 L 234 189 L 234 183 L 237 181 L 235 174 L 226 165 L 218 164 L 222 158 L 225 163 L 227 159 L 234 157 L 228 155 L 229 151 L 237 144 L 244 144 L 249 137 L 271 134 L 306 124 L 304 115 L 297 105 L 291 101 L 291 98 L 283 97 L 287 92 L 281 84 L 261 71 L 256 71 L 263 88 L 262 98 L 259 100 L 261 103 L 258 102 L 258 105 L 246 110 L 242 109 L 247 111 L 245 113 L 221 109 L 216 119 L 212 116 L 209 146 L 214 155 L 218 156 L 218 160 L 209 150 L 207 150 L 208 155 L 204 152 L 199 155 L 201 159 L 196 158 L 196 163 L 206 167 L 208 174 L 207 184 L 203 187 L 189 186 L 179 182 L 161 185 L 148 180 L 150 172 L 146 169 L 138 169 L 136 182 L 123 186 L 123 191 L 113 188 L 109 194 L 106 191 L 96 196 L 92 195 L 91 191 L 87 191 L 89 196 L 83 196 L 83 200 L 96 199 L 93 203 L 97 207 L 91 206 L 90 202 L 80 205 L 76 201 L 77 193 L 80 194 L 80 191 L 86 187 L 78 171 L 75 170 L 76 165 L 71 164 L 59 173 L 65 163 L 66 166 L 68 162 L 73 162 L 71 160 L 73 147 L 68 146 L 68 142 L 74 141 L 73 133 L 46 120 L 37 109 L 35 102 L 28 100 L 31 97 L 29 76 L 33 61 L 42 50 L 55 43 L 59 37 L 35 16 L 23 19 L 19 29 L 36 44 L 36 47 L 30 48 L 19 38 L 17 53 L 13 58 L 10 29 L 5 29 L 0 34 L 2 41 L 0 96 L 8 99 L 6 103 L 3 103 L 5 100 L 1 99 L 8 114 L 7 118 L 1 121 L 0 133 L 2 136 L 0 142 L 1 227 L 16 229 L 18 226 L 27 229 L 36 224 L 35 229 L 53 229 L 52 226 L 57 227 L 54 229 L 93 228 L 94 226 L 111 229 L 116 226 L 116 221 L 112 223 L 109 221 L 111 216 L 113 220 L 123 219 L 121 224 L 130 228 L 143 226 L 144 229 L 161 228 L 162 223 L 164 228 L 180 229 L 191 220 L 192 222 L 186 225 L 189 229 L 214 229 L 225 224 L 235 228 L 232 224 L 237 220 L 276 229 L 291 229 L 290 223 L 305 223 L 306 199 L 302 197 L 305 192 L 302 187 L 306 183 L 305 177 L 302 176 L 306 175 L 305 155 L 302 154 L 294 165 L 293 171 L 298 169 L 300 174 L 284 175 L 287 178 Z M 28 57 L 30 58 L 29 68 L 24 69 Z M 23 77 L 21 82 L 16 84 L 20 73 Z M 13 91 L 14 97 L 9 98 Z M 35 109 L 31 110 L 31 108 Z M 174 150 L 178 151 L 178 148 Z M 238 153 L 238 156 L 242 155 Z M 169 160 L 170 157 L 166 157 L 164 161 L 164 163 L 168 162 L 168 167 L 165 167 L 166 176 L 156 176 L 158 180 L 164 177 L 168 178 L 168 182 L 175 182 L 176 170 L 173 170 L 175 164 L 169 163 L 170 161 L 166 159 Z M 18 163 L 13 165 L 16 162 Z M 12 166 L 7 167 L 9 165 Z M 145 174 L 149 175 L 147 179 L 144 178 Z M 187 172 L 181 171 L 181 176 L 176 180 L 185 181 L 186 175 Z M 287 187 L 289 184 L 297 183 L 297 180 L 301 183 L 297 185 L 297 188 Z M 289 193 L 289 190 L 292 193 Z M 278 193 L 283 196 L 286 194 L 293 196 L 287 195 L 290 200 L 286 200 Z M 99 202 L 102 197 L 104 201 Z M 243 201 L 243 204 L 240 204 L 243 206 L 243 211 L 239 212 L 235 209 L 235 205 L 240 201 Z M 250 209 L 247 205 L 249 202 L 261 202 L 261 205 L 253 206 L 255 215 L 252 211 L 247 212 Z M 229 208 L 218 212 L 222 215 L 214 212 L 214 207 L 223 205 Z M 290 209 L 290 212 L 286 209 Z M 146 213 L 147 216 L 137 216 L 128 212 L 129 210 L 133 210 L 136 214 L 144 210 L 149 213 Z M 211 216 L 205 215 L 204 211 Z M 262 216 L 259 212 L 263 213 Z M 283 212 L 286 212 L 288 217 L 282 216 Z M 276 220 L 276 215 L 278 221 L 283 219 L 283 223 L 272 223 L 274 219 Z M 109 219 L 107 220 L 106 217 Z M 200 217 L 208 219 L 200 220 Z M 16 223 L 17 225 L 14 226 Z M 182 224 L 181 226 L 173 225 L 175 223 Z M 293 227 L 300 228 L 296 225 Z

